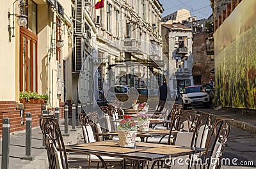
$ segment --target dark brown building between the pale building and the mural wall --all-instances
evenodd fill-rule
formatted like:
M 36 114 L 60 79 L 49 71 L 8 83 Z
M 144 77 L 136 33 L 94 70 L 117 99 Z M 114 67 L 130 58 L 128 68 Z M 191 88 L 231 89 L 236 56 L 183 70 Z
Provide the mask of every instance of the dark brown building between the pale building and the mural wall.
M 185 22 L 193 32 L 193 79 L 195 85 L 214 87 L 214 24 L 209 18 Z M 211 86 L 209 85 L 211 84 Z

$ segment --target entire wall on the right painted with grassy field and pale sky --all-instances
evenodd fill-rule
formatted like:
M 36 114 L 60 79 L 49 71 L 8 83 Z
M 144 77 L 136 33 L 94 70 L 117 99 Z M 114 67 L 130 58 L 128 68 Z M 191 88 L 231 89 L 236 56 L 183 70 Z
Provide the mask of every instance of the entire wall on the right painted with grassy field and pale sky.
M 244 0 L 214 33 L 216 102 L 256 109 L 256 1 Z

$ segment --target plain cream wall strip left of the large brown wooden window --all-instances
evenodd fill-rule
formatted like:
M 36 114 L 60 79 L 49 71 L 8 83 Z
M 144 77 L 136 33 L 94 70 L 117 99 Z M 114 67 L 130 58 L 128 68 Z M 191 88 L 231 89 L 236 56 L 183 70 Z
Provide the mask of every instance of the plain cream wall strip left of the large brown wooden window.
M 13 1 L 1 1 L 0 6 L 0 101 L 14 101 L 15 100 L 15 40 L 19 40 L 19 36 L 12 38 L 12 42 L 9 42 L 7 17 L 8 11 L 12 13 Z M 17 3 L 16 3 L 17 6 Z M 15 17 L 14 17 L 15 18 Z M 10 26 L 12 27 L 12 16 L 10 20 Z M 17 26 L 15 26 L 17 29 Z M 19 27 L 18 27 L 19 30 Z M 14 29 L 15 31 L 15 29 Z M 19 44 L 19 43 L 18 43 Z

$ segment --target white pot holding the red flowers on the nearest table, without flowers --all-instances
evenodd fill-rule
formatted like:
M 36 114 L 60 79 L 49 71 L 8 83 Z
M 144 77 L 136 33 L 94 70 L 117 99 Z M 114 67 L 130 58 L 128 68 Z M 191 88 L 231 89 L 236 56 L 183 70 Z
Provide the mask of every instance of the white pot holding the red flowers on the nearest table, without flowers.
M 119 130 L 117 134 L 121 147 L 134 147 L 137 130 Z

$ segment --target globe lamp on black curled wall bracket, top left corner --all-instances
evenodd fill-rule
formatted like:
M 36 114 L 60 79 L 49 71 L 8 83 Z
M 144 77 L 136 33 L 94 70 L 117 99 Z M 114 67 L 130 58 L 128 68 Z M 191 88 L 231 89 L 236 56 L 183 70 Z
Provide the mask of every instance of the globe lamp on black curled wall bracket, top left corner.
M 10 21 L 10 17 L 12 16 L 12 27 L 10 26 L 10 22 L 9 22 L 9 25 L 8 25 L 8 31 L 9 31 L 9 36 L 12 34 L 12 37 L 14 37 L 14 16 L 15 16 L 15 13 L 14 13 L 14 4 L 19 1 L 19 8 L 20 8 L 20 14 L 17 15 L 17 24 L 19 26 L 26 26 L 28 24 L 28 21 L 27 21 L 27 15 L 25 15 L 25 6 L 26 6 L 26 3 L 24 0 L 15 0 L 14 3 L 12 4 L 12 13 L 10 13 L 8 11 L 8 20 Z M 12 33 L 11 33 L 11 30 L 12 30 Z

